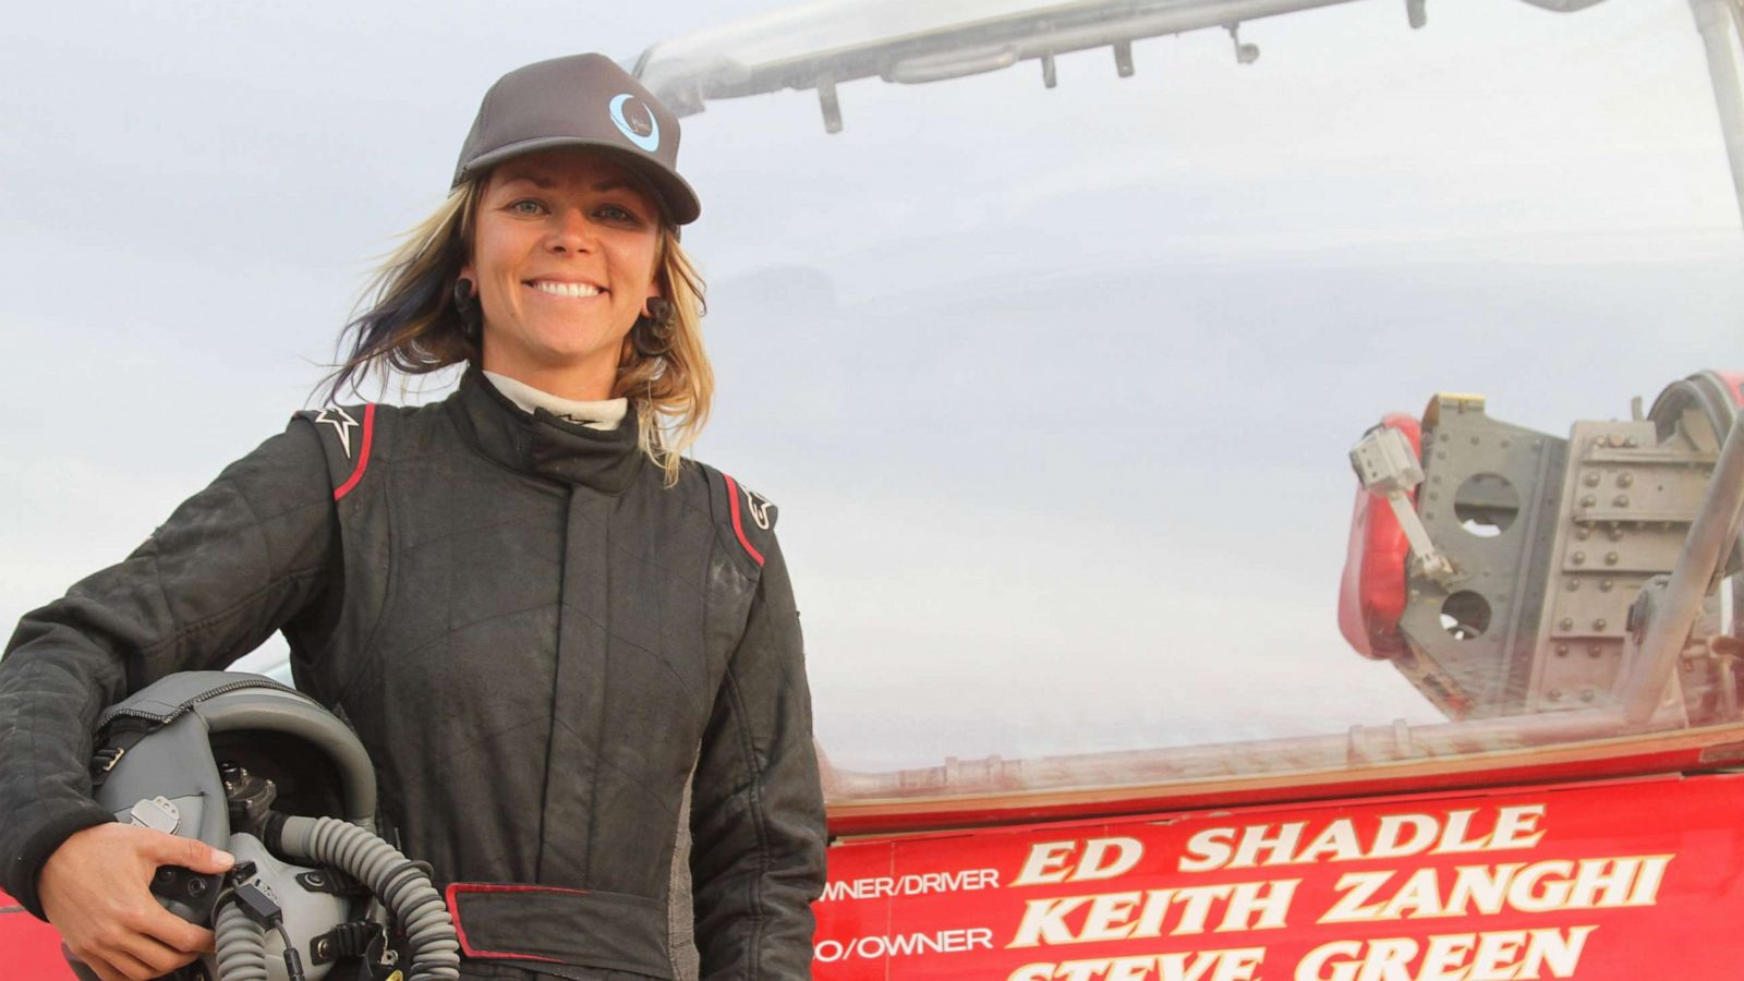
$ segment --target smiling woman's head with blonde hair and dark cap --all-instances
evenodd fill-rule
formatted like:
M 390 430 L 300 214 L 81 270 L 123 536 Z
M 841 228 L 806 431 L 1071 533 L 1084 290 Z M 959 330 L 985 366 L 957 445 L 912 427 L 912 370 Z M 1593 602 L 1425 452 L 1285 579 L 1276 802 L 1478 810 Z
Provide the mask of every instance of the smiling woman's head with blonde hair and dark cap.
M 532 89 L 532 106 L 504 105 L 495 93 L 460 152 L 448 201 L 406 234 L 378 271 L 370 307 L 347 325 L 349 354 L 328 396 L 377 370 L 417 375 L 466 363 L 499 384 L 513 379 L 565 400 L 548 405 L 558 414 L 621 419 L 623 400 L 635 400 L 637 445 L 675 482 L 715 389 L 701 339 L 703 281 L 677 234 L 701 211 L 673 169 L 678 124 L 668 122 L 663 141 L 666 110 L 621 93 L 605 124 L 528 138 L 560 131 L 546 119 L 555 112 L 546 91 Z M 633 120 L 626 105 L 640 106 Z M 516 115 L 528 119 L 509 126 Z

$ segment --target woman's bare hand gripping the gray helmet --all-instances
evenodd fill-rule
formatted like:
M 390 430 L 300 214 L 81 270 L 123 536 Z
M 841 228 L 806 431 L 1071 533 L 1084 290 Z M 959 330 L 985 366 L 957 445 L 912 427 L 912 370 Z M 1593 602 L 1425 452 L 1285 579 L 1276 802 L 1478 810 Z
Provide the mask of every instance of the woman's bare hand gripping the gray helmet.
M 103 981 L 146 981 L 213 950 L 213 932 L 159 906 L 159 866 L 227 871 L 235 859 L 194 838 L 131 824 L 75 833 L 49 855 L 37 897 L 73 957 Z

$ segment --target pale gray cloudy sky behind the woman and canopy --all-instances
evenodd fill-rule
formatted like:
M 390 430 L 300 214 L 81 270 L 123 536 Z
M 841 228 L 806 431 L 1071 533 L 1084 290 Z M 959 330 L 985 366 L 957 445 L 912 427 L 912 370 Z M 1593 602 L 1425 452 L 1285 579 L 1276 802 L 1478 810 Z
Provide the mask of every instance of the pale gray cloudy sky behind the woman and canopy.
M 283 428 L 478 96 L 773 3 L 31 5 L 0 37 L 0 620 Z M 1437 714 L 1336 632 L 1380 414 L 1564 435 L 1744 367 L 1683 0 L 1350 3 L 685 120 L 715 422 L 837 765 Z

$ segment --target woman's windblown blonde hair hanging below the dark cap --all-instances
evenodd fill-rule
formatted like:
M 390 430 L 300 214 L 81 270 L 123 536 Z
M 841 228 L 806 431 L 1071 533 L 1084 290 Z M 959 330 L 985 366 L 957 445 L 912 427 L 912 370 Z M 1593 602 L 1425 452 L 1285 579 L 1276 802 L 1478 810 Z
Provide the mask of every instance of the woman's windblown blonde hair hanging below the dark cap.
M 375 269 L 358 304 L 363 312 L 340 332 L 344 360 L 324 382 L 326 401 L 338 401 L 344 391 L 358 393 L 370 375 L 385 386 L 394 372 L 424 375 L 460 363 L 478 367 L 481 349 L 467 337 L 453 305 L 453 285 L 471 257 L 483 185 L 480 178 L 453 189 Z M 671 487 L 685 450 L 708 422 L 715 370 L 703 347 L 703 278 L 678 244 L 678 229 L 666 222 L 659 227 L 654 281 L 671 302 L 671 347 L 647 358 L 624 337 L 612 394 L 635 407 L 637 445 Z

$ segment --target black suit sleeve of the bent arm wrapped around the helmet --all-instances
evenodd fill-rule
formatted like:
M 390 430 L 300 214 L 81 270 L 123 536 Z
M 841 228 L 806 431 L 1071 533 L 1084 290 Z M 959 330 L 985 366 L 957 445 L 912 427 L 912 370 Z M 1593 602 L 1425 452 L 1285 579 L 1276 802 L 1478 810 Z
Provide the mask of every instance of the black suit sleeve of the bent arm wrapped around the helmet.
M 42 916 L 37 875 L 91 799 L 98 714 L 176 670 L 220 669 L 296 618 L 337 555 L 319 436 L 267 440 L 126 560 L 26 614 L 0 660 L 0 887 Z

